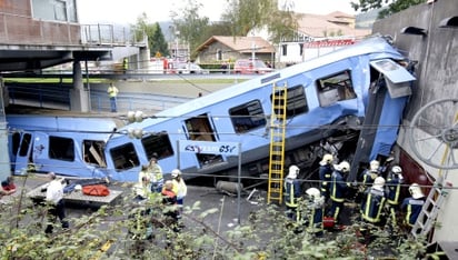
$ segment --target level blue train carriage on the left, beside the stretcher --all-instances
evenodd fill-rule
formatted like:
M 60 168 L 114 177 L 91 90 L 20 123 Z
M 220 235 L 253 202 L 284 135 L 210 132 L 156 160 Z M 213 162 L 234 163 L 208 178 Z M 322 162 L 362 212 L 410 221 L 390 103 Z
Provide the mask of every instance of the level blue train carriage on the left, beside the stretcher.
M 125 122 L 111 118 L 7 116 L 11 171 L 53 171 L 80 178 L 104 178 L 104 147 Z

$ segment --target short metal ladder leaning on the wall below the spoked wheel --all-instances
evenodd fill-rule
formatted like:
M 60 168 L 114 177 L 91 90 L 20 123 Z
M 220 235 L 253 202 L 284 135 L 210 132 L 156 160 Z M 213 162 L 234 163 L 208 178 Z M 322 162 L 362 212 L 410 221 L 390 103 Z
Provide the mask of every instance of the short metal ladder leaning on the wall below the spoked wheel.
M 425 204 L 421 209 L 420 214 L 415 222 L 411 234 L 415 238 L 425 237 L 429 233 L 429 231 L 434 228 L 436 223 L 437 214 L 441 209 L 444 200 L 447 198 L 448 191 L 444 189 L 444 179 L 439 177 L 435 184 L 432 186 L 431 190 L 429 191 L 428 197 L 426 198 Z

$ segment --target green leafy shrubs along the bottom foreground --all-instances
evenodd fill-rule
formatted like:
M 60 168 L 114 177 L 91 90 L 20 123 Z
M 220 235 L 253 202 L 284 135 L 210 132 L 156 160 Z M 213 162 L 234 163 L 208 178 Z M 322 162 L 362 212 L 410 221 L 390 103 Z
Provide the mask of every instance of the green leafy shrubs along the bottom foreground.
M 126 193 L 114 206 L 71 218 L 69 230 L 56 226 L 52 234 L 43 232 L 44 206 L 32 204 L 26 196 L 11 204 L 0 204 L 0 259 L 350 260 L 367 259 L 374 252 L 418 259 L 425 252 L 421 241 L 382 232 L 377 233 L 379 239 L 370 247 L 362 247 L 356 236 L 360 229 L 357 222 L 316 238 L 306 231 L 302 222 L 291 222 L 281 207 L 266 204 L 262 198 L 257 201 L 259 208 L 242 224 L 228 231 L 208 224 L 209 218 L 223 212 L 223 203 L 221 209 L 202 209 L 196 201 L 185 207 L 186 227 L 177 232 L 167 220 L 168 209 L 160 194 L 150 194 L 142 203 L 132 199 L 133 194 Z M 299 207 L 307 208 L 307 203 L 300 200 Z

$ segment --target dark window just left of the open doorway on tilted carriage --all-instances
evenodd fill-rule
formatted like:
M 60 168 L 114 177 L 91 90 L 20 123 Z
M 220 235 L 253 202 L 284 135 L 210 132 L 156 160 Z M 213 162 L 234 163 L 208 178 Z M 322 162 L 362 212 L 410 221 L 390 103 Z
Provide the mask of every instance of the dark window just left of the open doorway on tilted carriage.
M 149 134 L 141 139 L 145 152 L 148 160 L 152 158 L 152 154 L 157 154 L 158 159 L 163 159 L 173 156 L 173 149 L 169 139 L 169 134 L 166 131 L 160 133 Z

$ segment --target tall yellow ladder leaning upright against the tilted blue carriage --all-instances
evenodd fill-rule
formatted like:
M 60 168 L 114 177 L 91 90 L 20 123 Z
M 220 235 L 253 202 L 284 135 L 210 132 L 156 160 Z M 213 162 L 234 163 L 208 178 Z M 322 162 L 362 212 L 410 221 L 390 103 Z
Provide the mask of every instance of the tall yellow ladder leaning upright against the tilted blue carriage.
M 281 204 L 283 197 L 285 131 L 288 91 L 286 83 L 273 83 L 272 111 L 270 113 L 269 187 L 267 202 Z

